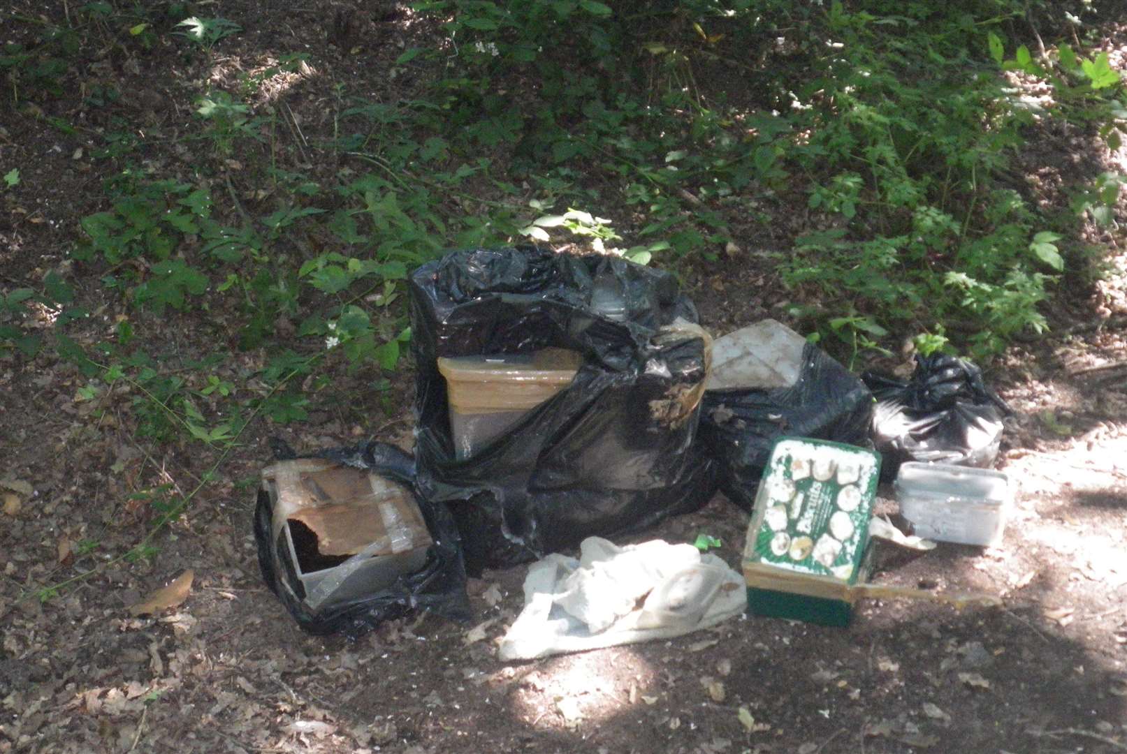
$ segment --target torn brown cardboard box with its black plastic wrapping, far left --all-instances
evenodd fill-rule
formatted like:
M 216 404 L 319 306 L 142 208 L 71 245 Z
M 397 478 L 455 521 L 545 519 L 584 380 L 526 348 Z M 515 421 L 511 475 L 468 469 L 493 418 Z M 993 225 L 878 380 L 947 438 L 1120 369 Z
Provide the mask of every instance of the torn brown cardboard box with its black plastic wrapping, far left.
M 356 637 L 416 609 L 468 616 L 458 530 L 415 497 L 412 474 L 414 459 L 381 442 L 263 469 L 259 565 L 303 629 Z

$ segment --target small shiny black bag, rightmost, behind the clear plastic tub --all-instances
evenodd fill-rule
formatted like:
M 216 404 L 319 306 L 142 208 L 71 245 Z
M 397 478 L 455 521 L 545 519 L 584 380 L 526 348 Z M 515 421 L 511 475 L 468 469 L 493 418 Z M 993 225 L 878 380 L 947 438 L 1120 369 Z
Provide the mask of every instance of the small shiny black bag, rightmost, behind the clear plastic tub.
M 1012 412 L 970 361 L 917 354 L 906 382 L 872 372 L 861 377 L 877 398 L 872 439 L 884 457 L 882 478 L 895 477 L 904 461 L 994 465 L 1002 419 Z

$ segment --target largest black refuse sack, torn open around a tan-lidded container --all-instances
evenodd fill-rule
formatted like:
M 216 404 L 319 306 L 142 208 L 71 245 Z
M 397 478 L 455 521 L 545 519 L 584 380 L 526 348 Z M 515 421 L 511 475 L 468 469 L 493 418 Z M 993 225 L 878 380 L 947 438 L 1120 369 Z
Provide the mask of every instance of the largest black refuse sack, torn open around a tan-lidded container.
M 693 511 L 708 335 L 672 275 L 538 248 L 469 250 L 410 280 L 416 486 L 450 505 L 467 567 L 508 567 Z M 438 357 L 578 351 L 570 385 L 458 460 Z

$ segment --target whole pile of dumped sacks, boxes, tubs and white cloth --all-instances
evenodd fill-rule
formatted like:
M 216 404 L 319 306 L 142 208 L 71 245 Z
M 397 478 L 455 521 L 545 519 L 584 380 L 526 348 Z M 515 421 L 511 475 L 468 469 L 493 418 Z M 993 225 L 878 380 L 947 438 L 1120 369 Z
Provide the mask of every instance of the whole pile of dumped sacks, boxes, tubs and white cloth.
M 1001 541 L 1012 491 L 990 467 L 1009 410 L 974 365 L 859 377 L 772 320 L 713 341 L 672 275 L 536 248 L 424 264 L 410 315 L 414 455 L 277 443 L 261 472 L 263 576 L 305 630 L 464 620 L 467 574 L 530 562 L 506 659 L 743 612 L 842 626 L 870 595 L 977 599 L 868 582 L 872 537 Z M 881 481 L 917 536 L 872 517 Z M 717 491 L 752 514 L 743 573 L 693 545 L 611 541 Z

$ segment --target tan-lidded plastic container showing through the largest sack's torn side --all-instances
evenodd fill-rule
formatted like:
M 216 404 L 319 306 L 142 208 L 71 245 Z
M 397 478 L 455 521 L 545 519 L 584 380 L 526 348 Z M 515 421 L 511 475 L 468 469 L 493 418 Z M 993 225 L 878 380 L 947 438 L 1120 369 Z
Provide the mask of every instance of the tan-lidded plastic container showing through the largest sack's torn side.
M 440 358 L 458 459 L 476 455 L 570 385 L 582 362 L 579 353 L 562 348 L 526 354 Z

